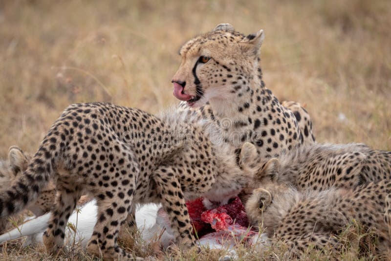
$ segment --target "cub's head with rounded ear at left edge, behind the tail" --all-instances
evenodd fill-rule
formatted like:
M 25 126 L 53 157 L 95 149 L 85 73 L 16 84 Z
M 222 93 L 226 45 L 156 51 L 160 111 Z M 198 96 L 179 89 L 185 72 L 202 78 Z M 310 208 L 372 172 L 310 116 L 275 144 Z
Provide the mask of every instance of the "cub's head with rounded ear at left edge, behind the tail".
M 0 177 L 13 178 L 27 169 L 30 156 L 25 155 L 18 146 L 8 150 L 8 160 L 0 161 Z

